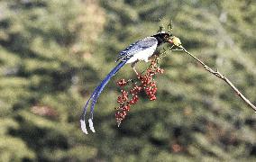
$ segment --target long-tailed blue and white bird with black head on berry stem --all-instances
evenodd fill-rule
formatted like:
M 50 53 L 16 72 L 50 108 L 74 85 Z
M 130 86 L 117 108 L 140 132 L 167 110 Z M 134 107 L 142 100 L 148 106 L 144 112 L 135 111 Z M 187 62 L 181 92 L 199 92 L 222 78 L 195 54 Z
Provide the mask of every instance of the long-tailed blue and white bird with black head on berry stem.
M 157 32 L 154 35 L 151 35 L 149 37 L 146 37 L 142 40 L 137 40 L 131 45 L 129 45 L 126 49 L 123 49 L 115 62 L 119 62 L 116 67 L 114 67 L 107 76 L 103 79 L 103 81 L 96 87 L 94 92 L 90 95 L 89 99 L 87 100 L 87 103 L 85 104 L 83 108 L 83 112 L 80 119 L 80 126 L 81 130 L 84 133 L 87 132 L 86 127 L 86 113 L 87 108 L 89 106 L 89 103 L 91 103 L 90 106 L 90 117 L 88 119 L 89 128 L 93 132 L 96 132 L 93 126 L 93 113 L 96 101 L 103 91 L 105 85 L 110 81 L 110 79 L 118 72 L 120 68 L 122 68 L 125 64 L 132 64 L 131 67 L 133 67 L 134 72 L 138 75 L 138 72 L 135 69 L 135 64 L 139 61 L 145 61 L 148 62 L 152 55 L 154 55 L 156 49 L 163 43 L 173 43 L 174 45 L 181 45 L 180 40 L 173 36 L 169 31 L 160 31 Z

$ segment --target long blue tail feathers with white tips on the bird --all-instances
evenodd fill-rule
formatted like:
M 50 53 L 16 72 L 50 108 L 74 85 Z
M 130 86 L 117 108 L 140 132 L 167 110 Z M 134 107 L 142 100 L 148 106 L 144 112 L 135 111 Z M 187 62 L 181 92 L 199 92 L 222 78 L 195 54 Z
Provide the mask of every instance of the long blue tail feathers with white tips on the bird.
M 95 91 L 93 92 L 93 94 L 91 94 L 90 98 L 88 99 L 81 119 L 80 119 L 80 123 L 81 123 L 81 129 L 87 134 L 87 128 L 86 128 L 86 114 L 87 114 L 87 107 L 89 105 L 89 103 L 91 102 L 91 110 L 90 110 L 90 118 L 88 120 L 89 122 L 89 127 L 90 130 L 92 130 L 93 132 L 95 132 L 94 130 L 94 126 L 93 126 L 93 114 L 94 114 L 94 108 L 95 108 L 95 104 L 97 101 L 97 98 L 99 97 L 99 94 L 101 94 L 101 92 L 103 91 L 105 85 L 109 82 L 109 80 L 111 79 L 111 77 L 113 77 L 115 75 L 115 73 L 121 68 L 123 67 L 123 65 L 126 63 L 127 61 L 121 61 L 116 67 L 114 67 L 110 73 L 105 76 L 105 79 L 101 82 L 100 85 L 98 85 L 95 89 Z

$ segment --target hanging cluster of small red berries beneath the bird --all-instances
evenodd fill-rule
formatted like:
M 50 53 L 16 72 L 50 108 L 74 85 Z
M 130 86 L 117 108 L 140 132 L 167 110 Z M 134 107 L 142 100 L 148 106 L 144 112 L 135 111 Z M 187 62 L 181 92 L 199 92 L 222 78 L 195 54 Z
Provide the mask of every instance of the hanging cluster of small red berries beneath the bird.
M 154 59 L 151 61 L 151 65 L 146 70 L 145 75 L 137 75 L 137 79 L 134 80 L 120 79 L 117 81 L 116 84 L 119 87 L 122 87 L 121 95 L 117 97 L 117 103 L 119 103 L 119 106 L 115 108 L 117 110 L 117 112 L 115 112 L 115 120 L 117 121 L 118 126 L 127 115 L 127 112 L 130 111 L 131 105 L 138 103 L 138 94 L 142 92 L 142 90 L 147 94 L 151 101 L 157 99 L 157 85 L 153 76 L 162 73 L 163 69 L 158 66 L 156 59 Z M 132 88 L 129 91 L 125 91 L 124 86 L 130 85 L 130 83 L 133 83 Z

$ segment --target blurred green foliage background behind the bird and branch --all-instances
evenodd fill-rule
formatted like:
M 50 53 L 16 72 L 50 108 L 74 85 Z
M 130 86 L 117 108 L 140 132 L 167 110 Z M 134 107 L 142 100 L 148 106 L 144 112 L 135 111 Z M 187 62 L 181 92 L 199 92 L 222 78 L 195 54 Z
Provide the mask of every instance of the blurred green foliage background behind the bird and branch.
M 178 51 L 160 63 L 157 101 L 142 98 L 120 128 L 114 81 L 129 66 L 96 103 L 96 133 L 78 122 L 118 52 L 159 18 L 255 104 L 255 17 L 252 0 L 2 0 L 0 161 L 255 161 L 255 113 Z

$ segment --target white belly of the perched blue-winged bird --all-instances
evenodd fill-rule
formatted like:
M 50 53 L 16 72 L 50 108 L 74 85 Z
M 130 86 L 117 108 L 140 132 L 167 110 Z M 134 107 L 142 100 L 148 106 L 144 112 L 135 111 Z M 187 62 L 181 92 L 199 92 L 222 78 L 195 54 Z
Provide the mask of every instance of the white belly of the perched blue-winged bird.
M 145 62 L 148 62 L 149 61 L 149 58 L 151 57 L 151 55 L 154 53 L 154 51 L 156 50 L 157 48 L 157 44 L 152 46 L 151 48 L 149 49 L 143 49 L 142 51 L 136 53 L 135 55 L 133 55 L 132 58 L 130 58 L 127 62 L 127 63 L 133 63 L 135 62 L 136 60 L 143 60 Z

